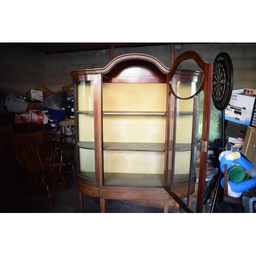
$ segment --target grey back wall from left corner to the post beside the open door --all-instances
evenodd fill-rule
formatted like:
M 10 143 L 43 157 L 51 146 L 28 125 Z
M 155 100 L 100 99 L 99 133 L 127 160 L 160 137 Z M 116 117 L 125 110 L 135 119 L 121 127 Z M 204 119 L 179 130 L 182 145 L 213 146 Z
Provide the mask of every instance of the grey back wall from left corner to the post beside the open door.
M 144 53 L 158 58 L 170 67 L 170 46 L 116 48 L 114 56 L 128 53 Z M 104 68 L 111 61 L 111 50 L 92 50 L 46 55 L 46 87 L 61 93 L 63 86 L 72 83 L 70 72 L 79 69 Z

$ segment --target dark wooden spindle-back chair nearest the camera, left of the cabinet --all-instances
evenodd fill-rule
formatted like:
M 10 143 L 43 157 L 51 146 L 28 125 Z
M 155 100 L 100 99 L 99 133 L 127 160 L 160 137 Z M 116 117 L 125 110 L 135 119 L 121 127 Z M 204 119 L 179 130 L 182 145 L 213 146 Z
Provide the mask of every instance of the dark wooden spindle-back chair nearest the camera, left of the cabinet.
M 25 197 L 27 194 L 46 196 L 48 197 L 49 204 L 52 205 L 50 187 L 54 184 L 61 184 L 67 189 L 62 175 L 62 167 L 65 164 L 42 161 L 37 151 L 36 138 L 33 137 L 15 139 L 12 144 L 12 150 L 27 182 Z M 35 191 L 32 191 L 35 187 L 41 186 L 46 188 L 46 193 L 35 193 Z

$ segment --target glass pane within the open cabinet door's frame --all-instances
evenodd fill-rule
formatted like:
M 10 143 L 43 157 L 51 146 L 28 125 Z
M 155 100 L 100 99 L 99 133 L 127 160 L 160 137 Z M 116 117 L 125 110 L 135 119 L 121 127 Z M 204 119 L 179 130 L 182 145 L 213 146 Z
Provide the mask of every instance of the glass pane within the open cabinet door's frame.
M 191 66 L 195 70 L 189 70 Z M 192 182 L 196 182 L 196 160 L 201 136 L 199 126 L 202 127 L 203 114 L 203 96 L 199 91 L 203 77 L 201 69 L 195 68 L 195 63 L 188 60 L 182 62 L 170 78 L 172 92 L 169 94 L 168 105 L 169 148 L 166 185 L 171 190 L 175 190 L 179 183 L 188 186 L 189 174 L 193 177 Z

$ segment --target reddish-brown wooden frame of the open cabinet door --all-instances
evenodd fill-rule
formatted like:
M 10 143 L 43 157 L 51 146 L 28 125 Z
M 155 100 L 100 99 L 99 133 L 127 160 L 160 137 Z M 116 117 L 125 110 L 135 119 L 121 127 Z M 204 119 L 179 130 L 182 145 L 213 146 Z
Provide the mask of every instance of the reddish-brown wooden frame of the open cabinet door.
M 202 144 L 201 144 L 201 161 L 200 161 L 200 169 L 199 169 L 199 184 L 198 184 L 198 194 L 197 194 L 197 206 L 196 206 L 196 212 L 202 212 L 203 211 L 203 201 L 204 201 L 204 190 L 205 190 L 205 179 L 206 179 L 206 167 L 207 167 L 207 152 L 208 152 L 208 141 L 209 141 L 209 124 L 210 124 L 210 108 L 211 108 L 211 90 L 212 90 L 212 63 L 206 63 L 202 59 L 202 57 L 195 51 L 187 51 L 182 53 L 177 57 L 177 59 L 174 62 L 174 65 L 170 69 L 169 74 L 167 75 L 167 83 L 170 81 L 170 79 L 173 77 L 179 63 L 181 61 L 184 61 L 186 59 L 194 59 L 198 66 L 203 70 L 204 72 L 204 79 L 203 83 L 197 92 L 197 94 L 200 91 L 204 91 L 204 110 L 203 110 L 203 129 L 202 129 Z M 170 84 L 169 84 L 170 85 Z M 172 92 L 171 86 L 169 86 L 169 92 Z M 177 100 L 177 97 L 175 98 L 175 101 Z M 170 104 L 167 101 L 167 104 Z M 177 103 L 174 102 L 175 108 Z M 194 110 L 195 112 L 195 97 L 194 97 Z M 176 111 L 174 115 L 176 115 Z M 194 115 L 194 114 L 193 114 Z M 167 117 L 169 118 L 169 116 Z M 195 118 L 195 117 L 193 117 Z M 176 120 L 176 119 L 174 119 Z M 169 138 L 169 127 L 168 124 L 169 120 L 166 122 L 166 138 Z M 194 122 L 193 122 L 194 123 Z M 194 124 L 193 124 L 194 125 Z M 174 128 L 175 129 L 175 128 Z M 194 129 L 194 128 L 193 128 Z M 175 134 L 175 131 L 174 131 Z M 175 135 L 174 135 L 175 140 Z M 191 191 L 190 191 L 190 185 L 191 185 L 191 166 L 190 166 L 190 172 L 189 172 L 189 181 L 188 181 L 188 194 L 187 194 L 187 203 L 184 203 L 184 201 L 181 200 L 181 198 L 173 191 L 173 185 L 174 185 L 174 167 L 171 170 L 170 173 L 170 188 L 167 187 L 167 175 L 168 175 L 168 159 L 167 159 L 167 151 L 169 148 L 169 141 L 167 141 L 165 146 L 165 177 L 164 177 L 164 188 L 169 193 L 169 195 L 186 211 L 186 212 L 193 212 L 189 205 L 191 204 Z M 173 151 L 175 152 L 175 141 L 172 145 Z M 191 154 L 193 154 L 191 152 Z M 175 161 L 175 156 L 173 155 L 172 159 L 173 163 Z M 173 164 L 174 166 L 174 164 Z

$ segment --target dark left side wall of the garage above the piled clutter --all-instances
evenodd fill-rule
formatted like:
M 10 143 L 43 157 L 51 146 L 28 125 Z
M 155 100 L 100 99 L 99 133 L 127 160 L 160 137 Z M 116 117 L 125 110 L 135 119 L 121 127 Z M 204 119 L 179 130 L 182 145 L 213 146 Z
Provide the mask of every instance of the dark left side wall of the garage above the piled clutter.
M 0 88 L 14 96 L 45 85 L 45 54 L 11 43 L 0 44 Z

